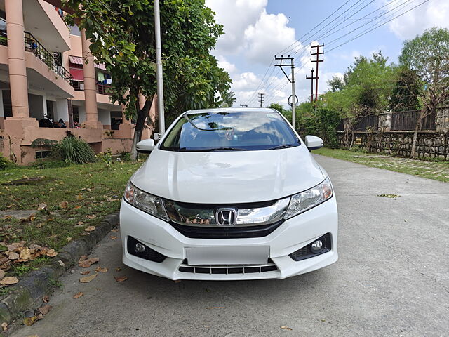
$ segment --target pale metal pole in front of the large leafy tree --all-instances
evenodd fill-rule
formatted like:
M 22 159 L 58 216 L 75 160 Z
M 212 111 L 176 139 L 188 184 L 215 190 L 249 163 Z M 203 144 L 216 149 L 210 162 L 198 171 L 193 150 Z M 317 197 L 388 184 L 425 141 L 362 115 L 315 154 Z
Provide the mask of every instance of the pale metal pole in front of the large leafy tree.
M 157 81 L 157 110 L 159 114 L 159 137 L 166 132 L 166 121 L 163 114 L 163 77 L 161 50 L 161 15 L 159 14 L 159 0 L 154 0 L 154 35 L 156 37 L 156 81 Z

